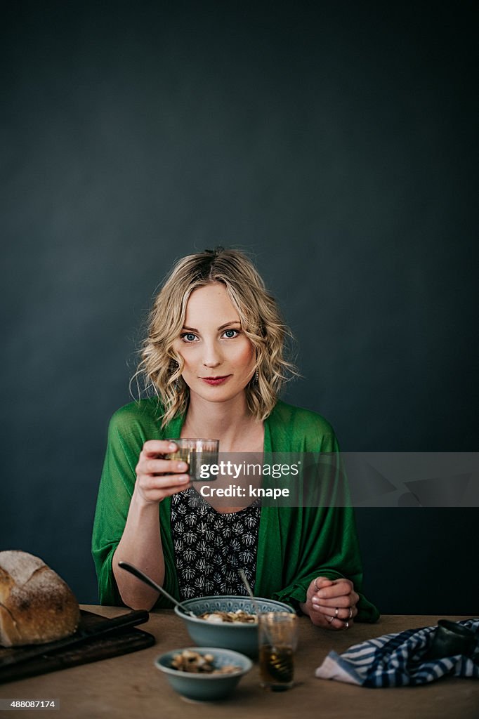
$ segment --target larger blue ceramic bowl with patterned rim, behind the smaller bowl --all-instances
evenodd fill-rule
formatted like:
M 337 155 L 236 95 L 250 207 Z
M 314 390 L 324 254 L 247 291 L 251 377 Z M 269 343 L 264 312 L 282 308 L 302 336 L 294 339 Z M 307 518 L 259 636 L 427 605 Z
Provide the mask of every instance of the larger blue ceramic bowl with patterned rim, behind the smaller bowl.
M 293 608 L 282 602 L 275 602 L 272 599 L 255 597 L 255 604 L 263 612 L 290 612 L 295 614 Z M 199 597 L 183 601 L 183 605 L 194 614 L 204 612 L 235 612 L 238 609 L 256 614 L 255 606 L 250 597 Z M 258 653 L 257 624 L 214 623 L 204 619 L 196 619 L 185 614 L 179 607 L 175 607 L 175 613 L 183 619 L 188 629 L 188 634 L 199 646 L 221 646 L 224 649 L 233 649 L 247 656 L 255 657 Z

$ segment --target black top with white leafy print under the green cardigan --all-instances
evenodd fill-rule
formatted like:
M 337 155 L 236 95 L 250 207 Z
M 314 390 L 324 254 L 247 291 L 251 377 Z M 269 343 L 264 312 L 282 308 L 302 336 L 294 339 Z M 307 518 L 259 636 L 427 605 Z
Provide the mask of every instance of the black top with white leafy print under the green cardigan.
M 238 569 L 255 587 L 261 506 L 221 514 L 193 487 L 171 498 L 171 534 L 181 599 L 247 595 Z

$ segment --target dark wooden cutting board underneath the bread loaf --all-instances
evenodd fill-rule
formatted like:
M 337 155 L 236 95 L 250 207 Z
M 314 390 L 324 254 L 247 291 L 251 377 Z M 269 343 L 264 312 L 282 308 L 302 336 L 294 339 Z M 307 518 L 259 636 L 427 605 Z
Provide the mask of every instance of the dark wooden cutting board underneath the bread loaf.
M 80 626 L 78 629 L 91 628 L 96 623 L 103 622 L 105 617 L 81 610 Z M 4 648 L 0 647 L 0 684 L 12 682 L 15 679 L 34 677 L 37 674 L 57 672 L 59 669 L 75 667 L 77 664 L 88 664 L 91 661 L 109 659 L 111 656 L 129 654 L 132 651 L 146 649 L 155 644 L 155 637 L 137 628 L 129 628 L 111 632 L 104 637 L 91 638 L 78 646 L 66 647 L 55 654 L 36 656 L 20 664 L 1 667 L 1 660 L 14 654 L 21 656 L 22 652 L 32 649 L 32 645 Z M 46 646 L 45 646 L 46 649 Z

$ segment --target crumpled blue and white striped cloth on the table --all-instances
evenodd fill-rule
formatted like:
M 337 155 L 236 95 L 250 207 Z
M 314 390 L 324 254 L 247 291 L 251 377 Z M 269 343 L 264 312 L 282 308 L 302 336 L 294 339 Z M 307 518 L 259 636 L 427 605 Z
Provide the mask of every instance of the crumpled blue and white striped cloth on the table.
M 479 639 L 479 619 L 458 623 L 472 629 Z M 330 651 L 316 669 L 316 677 L 362 687 L 417 686 L 446 675 L 479 679 L 479 648 L 472 658 L 457 654 L 446 659 L 423 659 L 434 629 L 435 626 L 385 634 L 355 644 L 343 654 Z

